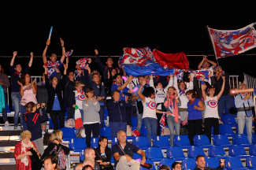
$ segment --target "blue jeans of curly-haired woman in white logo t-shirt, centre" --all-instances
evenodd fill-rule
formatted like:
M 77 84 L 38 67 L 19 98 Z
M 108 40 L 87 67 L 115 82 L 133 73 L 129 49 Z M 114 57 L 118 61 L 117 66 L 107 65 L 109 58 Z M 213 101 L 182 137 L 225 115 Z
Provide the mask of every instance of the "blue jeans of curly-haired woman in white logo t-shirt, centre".
M 151 117 L 145 117 L 143 118 L 143 120 L 147 129 L 147 140 L 148 142 L 150 142 L 150 146 L 151 146 L 151 134 L 153 134 L 153 139 L 154 139 L 154 136 L 157 135 L 158 120 Z

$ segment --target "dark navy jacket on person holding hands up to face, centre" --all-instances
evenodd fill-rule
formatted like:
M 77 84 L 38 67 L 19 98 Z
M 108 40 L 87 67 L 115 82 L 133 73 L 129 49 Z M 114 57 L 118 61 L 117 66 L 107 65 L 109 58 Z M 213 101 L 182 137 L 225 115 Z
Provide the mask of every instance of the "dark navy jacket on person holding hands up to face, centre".
M 108 103 L 109 122 L 126 122 L 126 109 L 132 109 L 129 102 L 113 100 Z

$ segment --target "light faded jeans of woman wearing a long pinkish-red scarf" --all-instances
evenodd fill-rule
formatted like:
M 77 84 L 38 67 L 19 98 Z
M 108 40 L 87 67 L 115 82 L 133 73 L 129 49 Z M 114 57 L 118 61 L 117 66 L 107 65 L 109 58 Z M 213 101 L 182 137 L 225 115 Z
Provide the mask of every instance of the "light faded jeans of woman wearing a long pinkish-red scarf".
M 166 120 L 170 130 L 170 144 L 171 146 L 173 146 L 174 127 L 175 127 L 175 135 L 180 135 L 180 119 L 179 119 L 179 122 L 176 123 L 175 116 L 166 116 Z

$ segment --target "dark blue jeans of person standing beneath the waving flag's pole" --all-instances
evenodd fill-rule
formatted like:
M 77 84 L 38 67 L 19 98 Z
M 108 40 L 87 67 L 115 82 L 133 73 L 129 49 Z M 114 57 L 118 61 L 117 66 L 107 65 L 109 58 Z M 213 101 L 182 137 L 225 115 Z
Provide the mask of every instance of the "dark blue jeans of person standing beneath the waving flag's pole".
M 226 109 L 228 110 L 228 113 L 226 114 L 230 115 L 229 110 L 234 108 L 234 104 L 229 94 L 226 96 L 221 96 L 221 98 L 217 102 L 217 107 L 218 107 L 217 109 L 220 117 L 224 115 L 224 106 L 226 106 Z

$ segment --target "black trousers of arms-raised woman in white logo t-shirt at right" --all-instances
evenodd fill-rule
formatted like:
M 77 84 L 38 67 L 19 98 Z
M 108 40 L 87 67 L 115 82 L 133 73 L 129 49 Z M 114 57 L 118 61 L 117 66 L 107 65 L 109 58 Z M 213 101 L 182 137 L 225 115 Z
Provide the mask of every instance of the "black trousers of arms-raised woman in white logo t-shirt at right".
M 206 124 L 206 136 L 211 142 L 212 126 L 213 126 L 213 135 L 219 135 L 219 119 L 218 118 L 205 118 Z

